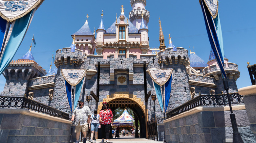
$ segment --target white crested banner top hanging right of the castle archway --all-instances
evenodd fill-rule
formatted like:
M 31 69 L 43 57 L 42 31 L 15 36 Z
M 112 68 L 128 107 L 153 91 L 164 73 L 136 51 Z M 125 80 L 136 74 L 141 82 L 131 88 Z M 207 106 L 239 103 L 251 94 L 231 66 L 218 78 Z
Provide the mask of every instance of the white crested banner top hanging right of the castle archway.
M 148 71 L 152 80 L 156 84 L 162 86 L 171 77 L 173 69 L 154 69 L 154 70 L 148 70 Z

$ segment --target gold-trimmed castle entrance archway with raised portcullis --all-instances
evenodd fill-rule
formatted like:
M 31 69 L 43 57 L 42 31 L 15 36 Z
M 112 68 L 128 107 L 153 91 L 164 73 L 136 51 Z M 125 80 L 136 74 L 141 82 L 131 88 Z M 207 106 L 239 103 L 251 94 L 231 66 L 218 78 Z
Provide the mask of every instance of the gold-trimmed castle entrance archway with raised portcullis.
M 127 92 L 116 92 L 103 99 L 103 102 L 109 104 L 110 109 L 114 112 L 118 107 L 128 107 L 133 110 L 135 121 L 139 121 L 140 124 L 140 137 L 147 138 L 147 115 L 145 111 L 144 102 L 137 98 L 136 95 L 128 94 Z M 98 112 L 102 108 L 102 103 L 98 105 Z

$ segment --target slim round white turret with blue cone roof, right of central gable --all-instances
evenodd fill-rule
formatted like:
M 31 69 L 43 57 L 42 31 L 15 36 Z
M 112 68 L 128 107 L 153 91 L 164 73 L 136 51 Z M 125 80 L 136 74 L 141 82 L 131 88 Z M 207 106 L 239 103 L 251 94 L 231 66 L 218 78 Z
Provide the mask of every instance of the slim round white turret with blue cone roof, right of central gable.
M 143 13 L 141 14 L 143 18 Z M 141 22 L 139 31 L 140 35 L 140 50 L 142 51 L 142 54 L 148 53 L 149 43 L 148 43 L 148 29 L 144 23 L 144 21 Z

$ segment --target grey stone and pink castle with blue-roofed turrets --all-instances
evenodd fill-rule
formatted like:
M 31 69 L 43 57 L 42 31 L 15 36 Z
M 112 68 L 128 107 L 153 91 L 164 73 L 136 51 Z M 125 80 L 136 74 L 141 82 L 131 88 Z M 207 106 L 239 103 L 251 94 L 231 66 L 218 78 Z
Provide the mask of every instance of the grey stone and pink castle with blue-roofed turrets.
M 200 94 L 224 94 L 221 71 L 210 48 L 205 50 L 209 52 L 209 59 L 203 60 L 195 52 L 172 43 L 170 35 L 166 42 L 160 20 L 159 48 L 150 48 L 150 14 L 146 4 L 146 0 L 131 0 L 131 11 L 125 12 L 121 6 L 121 11 L 117 12 L 120 16 L 114 18 L 111 25 L 104 25 L 102 12 L 94 32 L 89 27 L 90 21 L 86 20 L 71 33 L 71 46 L 55 49 L 56 68 L 51 65 L 48 72 L 37 64 L 30 48 L 3 72 L 6 83 L 1 96 L 26 96 L 69 114 L 75 107 L 68 100 L 72 102 L 74 95 L 80 95 L 78 98 L 83 99 L 85 105 L 88 101 L 92 111 L 99 112 L 103 102 L 107 102 L 112 111 L 128 107 L 134 112 L 134 121 L 140 123 L 140 137 L 146 137 L 147 122 L 152 117 L 163 118 L 164 112 Z M 164 106 L 165 99 L 151 98 L 156 90 L 150 70 L 160 68 L 172 69 L 169 104 L 164 110 L 161 105 Z M 225 57 L 224 68 L 229 92 L 237 92 L 238 66 Z M 65 74 L 71 74 L 64 73 L 66 69 L 81 71 L 77 74 L 77 78 L 82 75 L 79 84 L 67 79 Z M 71 99 L 67 94 L 71 94 Z

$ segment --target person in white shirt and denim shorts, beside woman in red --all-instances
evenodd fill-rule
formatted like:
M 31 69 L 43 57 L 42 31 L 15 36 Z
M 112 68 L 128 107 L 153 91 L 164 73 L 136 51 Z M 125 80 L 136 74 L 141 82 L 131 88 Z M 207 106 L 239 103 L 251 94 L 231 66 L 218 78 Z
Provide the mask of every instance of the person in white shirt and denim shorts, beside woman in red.
M 91 139 L 89 140 L 89 142 L 93 142 L 93 133 L 95 132 L 95 140 L 94 142 L 96 142 L 96 139 L 98 139 L 98 128 L 100 128 L 100 124 L 99 124 L 99 114 L 97 114 L 97 109 L 95 109 L 94 114 L 91 116 L 90 119 L 90 123 L 89 123 L 89 129 L 91 128 Z

